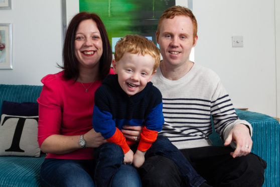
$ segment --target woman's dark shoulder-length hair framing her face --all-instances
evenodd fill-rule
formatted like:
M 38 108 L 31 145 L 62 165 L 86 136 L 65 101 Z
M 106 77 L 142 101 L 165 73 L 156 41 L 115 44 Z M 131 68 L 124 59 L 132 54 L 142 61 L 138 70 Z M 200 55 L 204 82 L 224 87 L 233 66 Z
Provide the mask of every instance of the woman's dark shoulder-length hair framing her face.
M 74 79 L 77 80 L 79 77 L 79 62 L 75 55 L 75 35 L 79 24 L 84 20 L 93 20 L 100 32 L 103 46 L 103 53 L 99 60 L 99 75 L 98 77 L 102 80 L 109 73 L 110 65 L 112 62 L 112 50 L 108 35 L 105 29 L 104 24 L 98 15 L 94 13 L 81 12 L 74 16 L 71 20 L 68 29 L 66 31 L 66 36 L 63 46 L 63 66 L 60 66 L 64 69 L 64 78 L 66 80 Z

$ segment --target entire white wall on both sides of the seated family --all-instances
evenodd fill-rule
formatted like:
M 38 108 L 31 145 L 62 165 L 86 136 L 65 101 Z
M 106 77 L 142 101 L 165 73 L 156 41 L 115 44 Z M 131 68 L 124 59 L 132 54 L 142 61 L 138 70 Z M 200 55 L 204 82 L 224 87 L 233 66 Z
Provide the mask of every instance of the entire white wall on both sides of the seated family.
M 280 116 L 279 1 L 193 1 L 199 26 L 195 62 L 220 75 L 236 108 L 274 117 Z M 66 3 L 68 23 L 79 7 L 78 0 Z M 61 15 L 58 0 L 14 0 L 11 10 L 0 10 L 0 23 L 13 24 L 14 61 L 12 70 L 0 70 L 0 83 L 42 85 L 43 76 L 60 71 Z M 231 47 L 234 35 L 243 36 L 243 48 Z

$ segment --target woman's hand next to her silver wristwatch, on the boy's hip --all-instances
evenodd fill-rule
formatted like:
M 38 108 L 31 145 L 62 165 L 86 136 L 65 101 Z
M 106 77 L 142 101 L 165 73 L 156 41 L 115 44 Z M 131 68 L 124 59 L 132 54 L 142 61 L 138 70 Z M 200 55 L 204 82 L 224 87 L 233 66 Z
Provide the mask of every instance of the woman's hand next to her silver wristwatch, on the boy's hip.
M 86 141 L 86 147 L 99 147 L 101 144 L 106 143 L 107 141 L 103 138 L 100 133 L 91 129 L 87 133 L 84 134 L 84 139 Z

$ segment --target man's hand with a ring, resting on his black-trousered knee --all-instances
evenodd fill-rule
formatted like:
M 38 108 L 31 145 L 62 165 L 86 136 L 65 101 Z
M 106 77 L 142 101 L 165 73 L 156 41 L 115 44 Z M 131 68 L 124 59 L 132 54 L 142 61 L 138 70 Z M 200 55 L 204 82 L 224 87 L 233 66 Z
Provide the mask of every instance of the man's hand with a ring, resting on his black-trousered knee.
M 251 152 L 253 141 L 250 136 L 250 130 L 244 124 L 237 124 L 229 132 L 225 140 L 224 146 L 229 145 L 231 142 L 236 142 L 236 148 L 230 155 L 235 158 L 237 156 L 245 156 Z

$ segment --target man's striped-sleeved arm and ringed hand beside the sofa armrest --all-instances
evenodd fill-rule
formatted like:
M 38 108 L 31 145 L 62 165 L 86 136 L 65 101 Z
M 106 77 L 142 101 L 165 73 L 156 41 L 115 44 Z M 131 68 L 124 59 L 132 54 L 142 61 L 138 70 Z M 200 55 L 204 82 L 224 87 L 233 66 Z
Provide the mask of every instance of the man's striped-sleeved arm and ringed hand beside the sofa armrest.
M 211 115 L 215 129 L 220 133 L 224 145 L 231 145 L 232 157 L 244 156 L 250 153 L 252 147 L 252 126 L 245 120 L 240 120 L 235 113 L 227 91 L 218 79 L 212 95 Z

